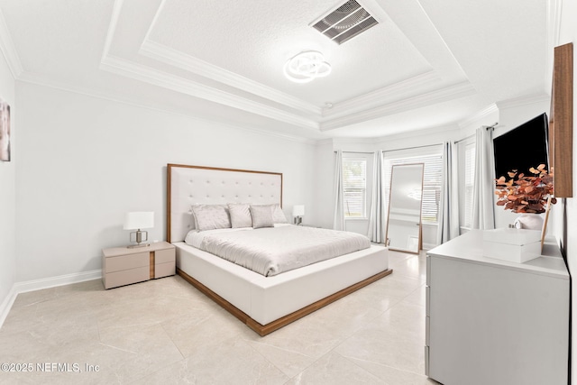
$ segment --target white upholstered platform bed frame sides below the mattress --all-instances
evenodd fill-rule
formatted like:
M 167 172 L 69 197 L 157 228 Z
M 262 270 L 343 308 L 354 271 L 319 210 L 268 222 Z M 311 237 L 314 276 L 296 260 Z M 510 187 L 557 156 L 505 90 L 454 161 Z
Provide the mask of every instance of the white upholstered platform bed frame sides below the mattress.
M 387 249 L 377 245 L 264 277 L 186 243 L 173 244 L 177 248 L 177 267 L 180 270 L 261 325 L 389 269 Z

